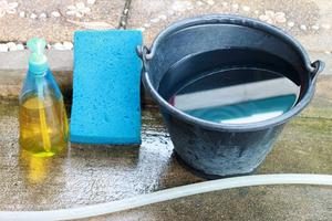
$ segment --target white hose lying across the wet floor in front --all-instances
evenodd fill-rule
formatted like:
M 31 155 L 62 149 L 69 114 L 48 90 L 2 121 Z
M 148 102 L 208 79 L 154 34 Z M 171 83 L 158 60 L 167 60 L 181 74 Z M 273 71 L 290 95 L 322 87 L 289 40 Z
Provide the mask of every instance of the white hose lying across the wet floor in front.
M 263 185 L 320 185 L 332 186 L 331 175 L 256 175 L 205 181 L 195 185 L 170 188 L 148 194 L 142 194 L 118 201 L 86 206 L 73 209 L 49 210 L 49 211 L 0 211 L 0 220 L 73 220 L 105 215 L 114 212 L 139 208 L 143 206 L 173 200 L 177 198 L 226 190 L 240 187 L 252 187 Z

